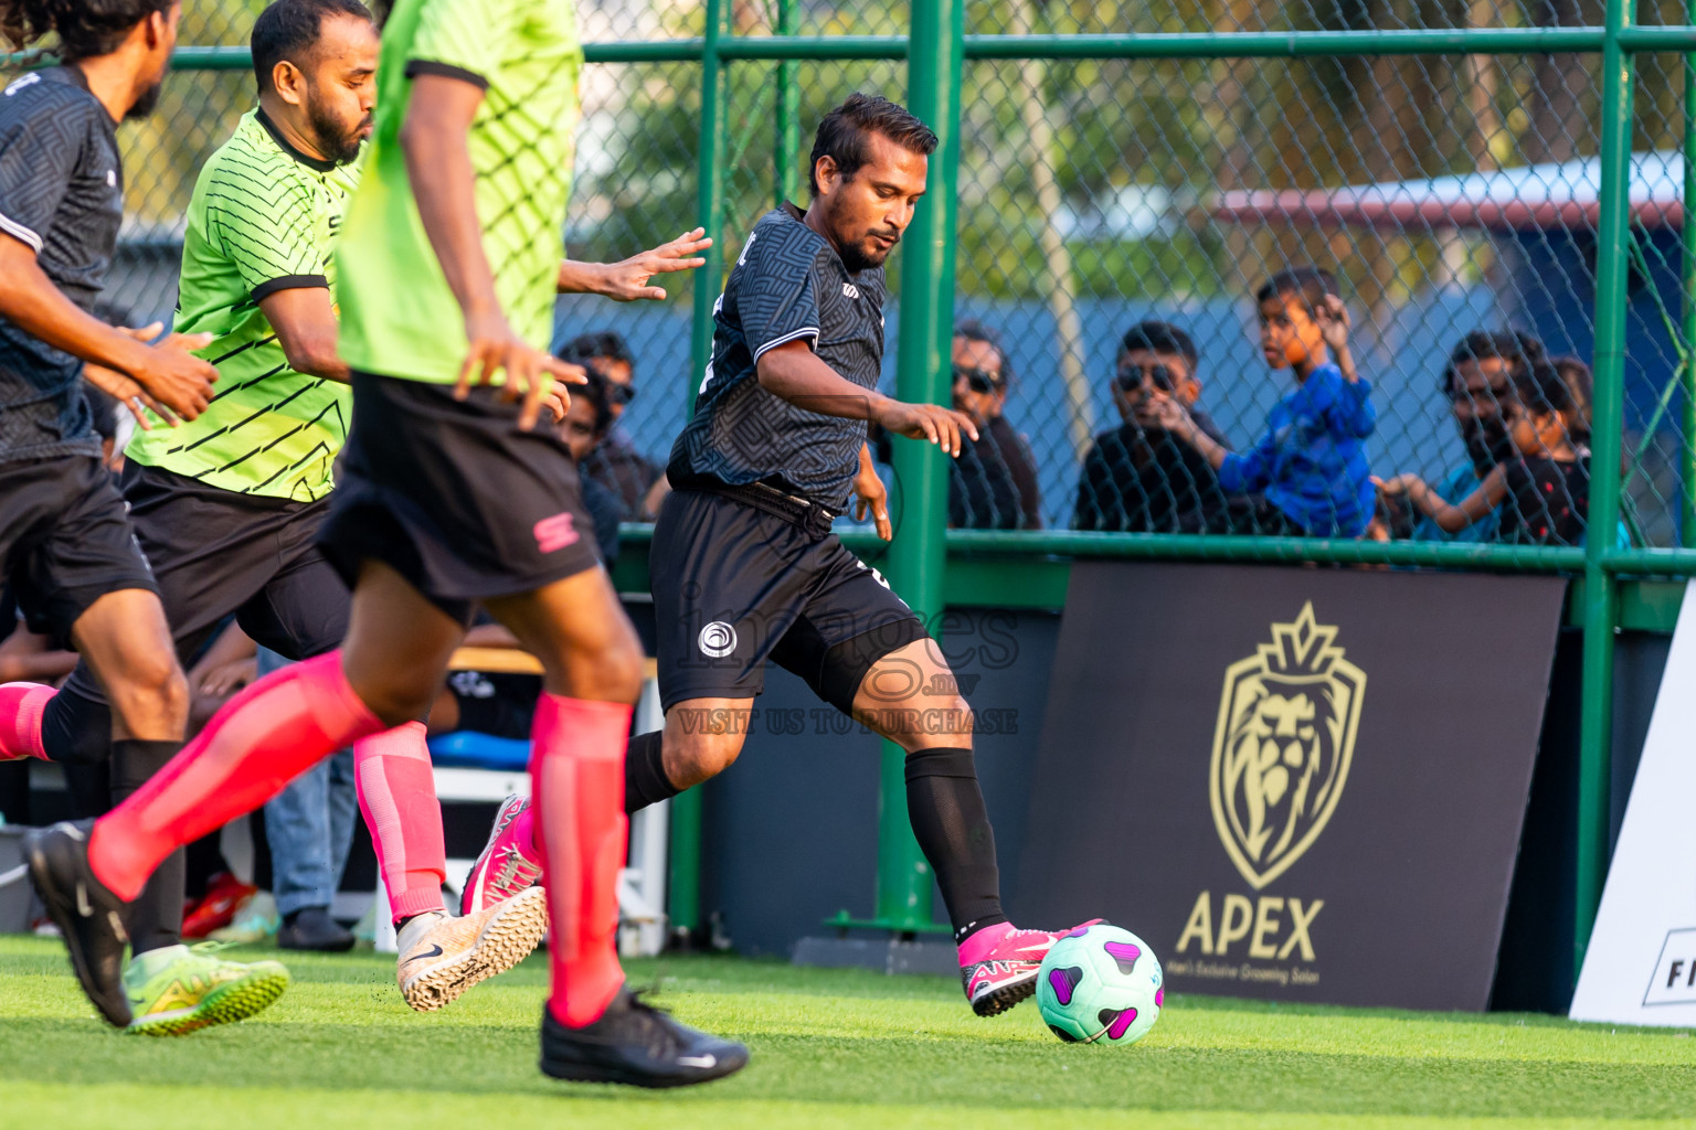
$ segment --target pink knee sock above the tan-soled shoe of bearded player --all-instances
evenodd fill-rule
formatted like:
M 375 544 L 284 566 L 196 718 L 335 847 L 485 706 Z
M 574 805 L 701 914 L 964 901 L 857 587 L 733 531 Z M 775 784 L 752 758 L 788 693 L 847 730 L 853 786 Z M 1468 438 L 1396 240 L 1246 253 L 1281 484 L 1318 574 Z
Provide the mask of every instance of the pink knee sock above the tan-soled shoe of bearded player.
M 448 878 L 448 849 L 424 723 L 407 722 L 354 742 L 353 781 L 393 920 L 446 910 L 441 884 Z

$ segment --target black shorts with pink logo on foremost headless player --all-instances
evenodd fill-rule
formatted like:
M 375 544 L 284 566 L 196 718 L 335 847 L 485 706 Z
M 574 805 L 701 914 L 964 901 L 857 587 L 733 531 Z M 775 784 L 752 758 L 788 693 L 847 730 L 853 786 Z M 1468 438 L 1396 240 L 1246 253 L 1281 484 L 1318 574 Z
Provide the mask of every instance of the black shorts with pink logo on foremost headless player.
M 353 374 L 353 427 L 319 546 L 351 584 L 382 561 L 449 617 L 594 569 L 572 452 L 478 388 Z

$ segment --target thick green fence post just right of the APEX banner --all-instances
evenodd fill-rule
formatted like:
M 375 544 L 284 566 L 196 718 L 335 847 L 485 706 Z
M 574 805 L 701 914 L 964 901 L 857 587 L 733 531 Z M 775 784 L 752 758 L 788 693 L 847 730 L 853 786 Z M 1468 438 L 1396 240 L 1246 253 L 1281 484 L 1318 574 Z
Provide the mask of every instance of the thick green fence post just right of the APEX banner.
M 1608 774 L 1613 745 L 1613 576 L 1603 559 L 1620 523 L 1620 446 L 1625 388 L 1625 303 L 1632 239 L 1632 86 L 1637 56 L 1620 34 L 1633 0 L 1608 0 L 1601 56 L 1601 217 L 1596 256 L 1596 422 L 1589 537 L 1584 549 L 1584 701 L 1579 727 L 1579 811 L 1574 974 L 1584 964 L 1608 878 Z

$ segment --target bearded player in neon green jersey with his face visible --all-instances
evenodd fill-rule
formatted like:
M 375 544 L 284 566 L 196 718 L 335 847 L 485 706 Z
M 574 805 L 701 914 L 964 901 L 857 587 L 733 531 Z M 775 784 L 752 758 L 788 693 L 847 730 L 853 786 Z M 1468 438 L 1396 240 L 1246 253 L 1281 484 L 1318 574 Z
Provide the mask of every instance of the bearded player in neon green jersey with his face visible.
M 137 535 L 185 659 L 232 613 L 292 659 L 322 654 L 346 632 L 346 584 L 312 539 L 348 434 L 331 252 L 371 129 L 377 49 L 358 0 L 268 7 L 253 32 L 259 105 L 195 185 L 178 325 L 214 335 L 200 356 L 219 368 L 217 395 L 190 424 L 139 432 L 126 471 Z M 602 290 L 641 296 L 651 263 L 692 266 L 694 246 L 685 239 L 626 264 L 572 269 Z M 49 747 L 100 756 L 109 712 L 86 669 L 42 718 L 46 734 L 64 735 Z M 539 891 L 460 922 L 444 911 L 443 832 L 422 723 L 358 742 L 354 779 L 402 928 L 397 981 L 409 1005 L 441 1008 L 534 949 L 546 930 Z M 310 891 L 280 893 L 290 944 L 334 944 L 339 928 L 315 901 Z M 251 991 L 237 976 L 244 967 L 176 944 L 178 925 L 173 906 L 161 925 L 168 944 L 126 972 L 134 1030 L 176 1033 L 239 1020 L 244 1006 L 256 1011 L 282 993 L 287 974 L 275 962 L 254 967 L 265 991 Z

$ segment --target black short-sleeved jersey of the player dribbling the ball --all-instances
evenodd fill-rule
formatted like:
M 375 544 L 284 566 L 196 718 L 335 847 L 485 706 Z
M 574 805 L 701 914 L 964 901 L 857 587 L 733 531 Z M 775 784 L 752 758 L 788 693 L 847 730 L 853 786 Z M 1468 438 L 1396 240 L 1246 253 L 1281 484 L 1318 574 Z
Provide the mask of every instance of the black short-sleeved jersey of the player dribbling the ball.
M 799 408 L 760 386 L 773 346 L 811 341 L 840 376 L 875 388 L 884 366 L 884 268 L 850 274 L 795 205 L 767 212 L 712 312 L 712 363 L 672 447 L 673 486 L 767 483 L 833 510 L 848 503 L 865 422 Z

